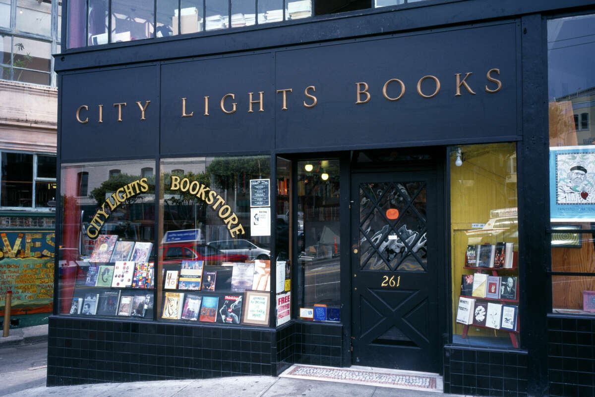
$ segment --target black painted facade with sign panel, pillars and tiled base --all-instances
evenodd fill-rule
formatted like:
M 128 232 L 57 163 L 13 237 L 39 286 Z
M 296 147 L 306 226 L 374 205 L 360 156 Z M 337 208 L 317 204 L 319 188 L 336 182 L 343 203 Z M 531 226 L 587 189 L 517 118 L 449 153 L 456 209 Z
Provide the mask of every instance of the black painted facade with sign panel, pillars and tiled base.
M 273 26 L 63 49 L 55 62 L 59 163 L 222 154 L 275 159 L 331 151 L 346 156 L 358 149 L 516 141 L 519 262 L 524 264 L 519 270 L 521 346 L 451 344 L 452 316 L 445 313 L 440 346 L 444 392 L 593 395 L 595 320 L 549 313 L 551 285 L 545 264 L 550 243 L 544 232 L 549 227 L 544 215 L 549 146 L 546 20 L 593 12 L 593 2 L 580 0 L 428 1 Z M 501 70 L 502 92 L 483 89 L 490 84 L 484 76 L 491 68 Z M 197 70 L 203 80 L 196 78 Z M 463 90 L 463 96 L 455 97 L 455 74 L 469 71 L 477 94 Z M 439 76 L 447 96 L 424 99 L 417 94 L 415 84 L 430 74 Z M 381 95 L 390 78 L 400 78 L 406 86 L 397 102 Z M 355 104 L 357 81 L 369 84 L 369 106 Z M 312 85 L 319 103 L 308 112 L 302 106 L 309 100 L 303 92 Z M 284 111 L 276 90 L 288 88 L 293 92 Z M 265 95 L 264 112 L 248 114 L 248 93 L 258 91 Z M 224 115 L 218 109 L 227 93 L 237 95 L 237 114 Z M 206 120 L 204 96 L 212 98 Z M 187 97 L 193 118 L 179 116 L 181 97 Z M 145 100 L 152 101 L 152 114 L 139 121 L 135 102 Z M 129 122 L 117 122 L 108 106 L 105 122 L 93 122 L 96 105 L 116 102 L 134 105 L 123 114 Z M 85 125 L 74 118 L 81 105 L 89 106 L 90 121 Z M 337 130 L 343 135 L 337 136 Z M 117 146 L 112 144 L 115 140 Z M 349 170 L 345 172 L 348 179 Z M 446 204 L 442 213 L 448 222 Z M 59 236 L 60 232 L 57 240 Z M 440 293 L 450 302 L 449 262 L 444 266 Z M 342 274 L 342 300 L 347 305 L 349 283 L 349 274 Z M 349 314 L 342 324 L 292 320 L 266 329 L 80 319 L 55 313 L 49 322 L 48 385 L 276 376 L 292 363 L 350 366 L 349 338 Z

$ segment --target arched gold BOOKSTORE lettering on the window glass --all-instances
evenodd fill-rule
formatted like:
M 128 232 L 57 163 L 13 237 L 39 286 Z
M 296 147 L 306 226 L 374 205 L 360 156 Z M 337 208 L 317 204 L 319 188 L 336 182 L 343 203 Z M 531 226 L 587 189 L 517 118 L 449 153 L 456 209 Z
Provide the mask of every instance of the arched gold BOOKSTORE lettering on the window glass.
M 223 223 L 227 225 L 227 230 L 231 237 L 237 237 L 241 234 L 246 234 L 240 219 L 237 218 L 235 212 L 231 212 L 231 207 L 225 203 L 225 199 L 217 194 L 216 191 L 201 185 L 198 181 L 190 181 L 188 178 L 180 178 L 177 175 L 171 176 L 172 191 L 181 191 L 182 193 L 190 193 L 196 198 L 205 201 L 217 213 Z

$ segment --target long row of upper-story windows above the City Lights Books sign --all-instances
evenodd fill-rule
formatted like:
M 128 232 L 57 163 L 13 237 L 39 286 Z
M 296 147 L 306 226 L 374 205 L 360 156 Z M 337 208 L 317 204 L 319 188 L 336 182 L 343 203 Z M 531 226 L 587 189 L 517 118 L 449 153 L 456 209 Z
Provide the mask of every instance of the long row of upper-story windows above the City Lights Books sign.
M 67 48 L 254 26 L 418 1 L 425 0 L 71 0 Z

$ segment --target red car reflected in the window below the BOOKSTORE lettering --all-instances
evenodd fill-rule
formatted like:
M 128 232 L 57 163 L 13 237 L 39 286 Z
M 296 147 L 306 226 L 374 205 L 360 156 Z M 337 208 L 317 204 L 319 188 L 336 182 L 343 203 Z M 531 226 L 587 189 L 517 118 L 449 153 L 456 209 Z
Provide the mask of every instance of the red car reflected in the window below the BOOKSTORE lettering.
M 248 259 L 247 255 L 225 254 L 217 248 L 206 244 L 164 244 L 163 245 L 163 264 L 181 263 L 183 260 L 204 260 L 205 264 L 217 265 L 222 262 L 243 262 Z

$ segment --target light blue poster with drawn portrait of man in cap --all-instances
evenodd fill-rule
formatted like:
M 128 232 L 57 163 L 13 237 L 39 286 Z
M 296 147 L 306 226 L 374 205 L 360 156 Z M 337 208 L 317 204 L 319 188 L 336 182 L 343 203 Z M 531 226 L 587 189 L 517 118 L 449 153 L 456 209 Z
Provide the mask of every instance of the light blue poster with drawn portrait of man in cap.
M 550 217 L 595 221 L 595 148 L 550 147 Z

